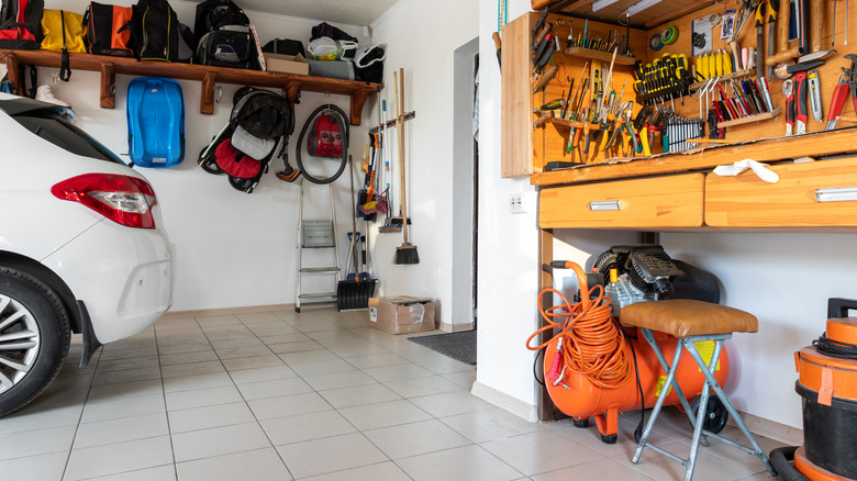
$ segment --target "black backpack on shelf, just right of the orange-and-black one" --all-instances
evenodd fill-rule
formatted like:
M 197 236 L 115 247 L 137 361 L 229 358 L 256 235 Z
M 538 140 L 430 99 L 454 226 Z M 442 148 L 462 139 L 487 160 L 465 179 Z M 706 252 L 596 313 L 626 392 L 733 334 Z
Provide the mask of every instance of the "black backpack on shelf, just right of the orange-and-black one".
M 167 0 L 140 0 L 133 9 L 132 37 L 137 58 L 178 60 L 178 18 Z

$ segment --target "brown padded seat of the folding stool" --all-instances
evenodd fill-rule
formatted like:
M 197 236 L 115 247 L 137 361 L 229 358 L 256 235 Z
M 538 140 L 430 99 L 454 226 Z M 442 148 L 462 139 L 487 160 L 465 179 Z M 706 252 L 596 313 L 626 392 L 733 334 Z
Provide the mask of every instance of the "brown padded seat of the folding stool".
M 690 299 L 637 302 L 622 307 L 620 321 L 678 338 L 759 329 L 756 316 L 750 313 Z

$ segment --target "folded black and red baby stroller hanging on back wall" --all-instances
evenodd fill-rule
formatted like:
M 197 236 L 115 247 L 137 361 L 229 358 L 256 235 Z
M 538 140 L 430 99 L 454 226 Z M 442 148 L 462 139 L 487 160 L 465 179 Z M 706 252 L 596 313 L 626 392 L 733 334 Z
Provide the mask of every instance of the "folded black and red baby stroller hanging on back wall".
M 230 122 L 202 149 L 198 164 L 229 176 L 230 184 L 253 192 L 275 153 L 283 157 L 294 130 L 289 101 L 268 90 L 243 87 L 233 97 Z

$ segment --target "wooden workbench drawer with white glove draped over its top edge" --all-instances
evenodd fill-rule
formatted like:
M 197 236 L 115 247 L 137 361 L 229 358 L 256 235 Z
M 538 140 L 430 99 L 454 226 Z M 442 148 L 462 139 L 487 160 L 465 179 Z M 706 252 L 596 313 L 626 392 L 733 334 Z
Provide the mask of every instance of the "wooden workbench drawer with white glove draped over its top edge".
M 857 157 L 769 167 L 765 182 L 753 171 L 705 178 L 705 224 L 712 227 L 857 226 Z

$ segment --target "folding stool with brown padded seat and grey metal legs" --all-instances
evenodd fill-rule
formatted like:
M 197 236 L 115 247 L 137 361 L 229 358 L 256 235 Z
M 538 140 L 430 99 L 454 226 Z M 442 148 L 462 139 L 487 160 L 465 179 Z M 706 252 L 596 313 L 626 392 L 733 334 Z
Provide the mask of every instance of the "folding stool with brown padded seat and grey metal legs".
M 702 393 L 700 394 L 701 399 L 699 411 L 695 413 L 695 420 L 693 420 L 692 415 L 688 413 L 693 425 L 693 440 L 691 443 L 690 455 L 688 459 L 681 459 L 671 452 L 648 444 L 648 436 L 652 434 L 652 427 L 655 425 L 658 414 L 660 413 L 660 409 L 664 406 L 664 400 L 667 398 L 669 392 L 669 389 L 665 388 L 661 389 L 660 395 L 658 395 L 658 400 L 655 403 L 655 407 L 652 411 L 648 423 L 646 423 L 646 427 L 643 430 L 643 436 L 637 443 L 637 448 L 634 451 L 634 458 L 632 459 L 632 462 L 637 463 L 639 461 L 639 457 L 643 455 L 643 449 L 649 447 L 685 466 L 685 481 L 690 481 L 693 479 L 693 468 L 697 463 L 697 455 L 699 454 L 700 441 L 708 446 L 705 438 L 711 437 L 744 449 L 750 455 L 758 456 L 771 476 L 776 477 L 777 471 L 771 466 L 768 456 L 761 450 L 761 447 L 759 447 L 756 438 L 754 438 L 753 434 L 749 432 L 749 429 L 747 429 L 747 426 L 744 424 L 744 421 L 742 421 L 738 412 L 735 411 L 735 407 L 732 405 L 728 398 L 726 398 L 723 389 L 720 387 L 716 379 L 714 379 L 713 372 L 716 369 L 717 360 L 720 359 L 723 342 L 732 337 L 732 333 L 757 332 L 758 321 L 756 317 L 737 309 L 688 299 L 638 302 L 623 307 L 621 316 L 622 324 L 641 328 L 643 336 L 652 346 L 652 349 L 655 351 L 655 355 L 660 361 L 661 367 L 667 373 L 667 379 L 664 382 L 664 385 L 671 385 L 672 389 L 676 390 L 676 393 L 679 394 L 680 399 L 683 401 L 682 404 L 687 405 L 687 401 L 685 401 L 685 396 L 681 393 L 681 388 L 675 379 L 682 350 L 687 350 L 690 356 L 693 357 L 693 360 L 697 361 L 697 366 L 699 366 L 699 369 L 705 376 L 705 382 L 702 384 Z M 679 339 L 679 344 L 676 346 L 676 354 L 672 357 L 671 365 L 667 365 L 666 359 L 664 358 L 664 355 L 660 351 L 660 348 L 658 348 L 658 345 L 655 342 L 655 337 L 652 334 L 653 331 L 663 332 Z M 693 344 L 703 340 L 714 342 L 714 350 L 711 356 L 710 365 L 705 362 Z M 711 366 L 711 368 L 709 366 Z M 720 398 L 720 401 L 723 403 L 724 407 L 726 407 L 726 411 L 735 421 L 735 424 L 737 424 L 741 432 L 744 433 L 744 436 L 753 446 L 752 448 L 703 429 L 703 421 L 705 416 L 705 407 L 709 403 L 710 390 L 713 390 L 717 398 Z

